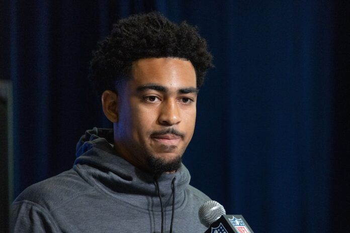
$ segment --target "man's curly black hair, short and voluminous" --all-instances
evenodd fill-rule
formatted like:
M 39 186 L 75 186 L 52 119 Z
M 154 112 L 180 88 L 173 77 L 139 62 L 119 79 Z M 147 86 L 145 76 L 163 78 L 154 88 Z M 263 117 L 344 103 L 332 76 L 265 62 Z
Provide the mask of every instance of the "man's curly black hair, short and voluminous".
M 115 90 L 115 82 L 130 75 L 132 62 L 141 58 L 176 57 L 191 61 L 197 86 L 212 67 L 212 55 L 197 28 L 177 25 L 158 12 L 137 14 L 119 20 L 111 34 L 98 43 L 90 63 L 89 79 L 98 96 Z

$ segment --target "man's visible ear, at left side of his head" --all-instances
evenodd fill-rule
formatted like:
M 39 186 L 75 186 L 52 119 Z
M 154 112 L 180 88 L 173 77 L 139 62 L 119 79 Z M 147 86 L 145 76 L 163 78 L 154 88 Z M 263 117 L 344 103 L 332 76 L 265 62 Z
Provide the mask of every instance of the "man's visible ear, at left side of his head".
M 105 90 L 101 96 L 102 109 L 108 120 L 118 122 L 118 95 L 111 90 Z

